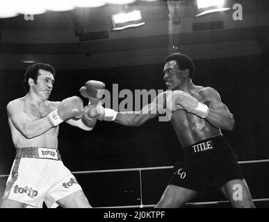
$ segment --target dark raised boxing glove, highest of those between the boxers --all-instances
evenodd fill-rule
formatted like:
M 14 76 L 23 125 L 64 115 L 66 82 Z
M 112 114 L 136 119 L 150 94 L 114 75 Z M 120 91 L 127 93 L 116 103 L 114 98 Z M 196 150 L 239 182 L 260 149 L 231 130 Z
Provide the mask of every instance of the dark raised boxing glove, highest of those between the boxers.
M 104 94 L 105 87 L 106 85 L 100 81 L 88 80 L 79 92 L 81 96 L 89 99 L 89 104 L 97 104 Z

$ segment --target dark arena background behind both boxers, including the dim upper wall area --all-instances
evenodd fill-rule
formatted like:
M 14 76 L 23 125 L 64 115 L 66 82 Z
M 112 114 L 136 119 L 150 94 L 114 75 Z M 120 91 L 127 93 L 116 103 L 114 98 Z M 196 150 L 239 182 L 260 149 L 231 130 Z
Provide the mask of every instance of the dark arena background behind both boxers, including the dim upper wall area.
M 222 133 L 238 160 L 269 159 L 268 1 L 230 1 L 243 4 L 243 21 L 236 22 L 233 10 L 194 18 L 193 1 L 180 2 L 175 15 L 165 1 L 142 3 L 145 26 L 122 32 L 111 31 L 111 13 L 122 6 L 92 8 L 90 13 L 88 9 L 47 12 L 33 22 L 22 16 L 0 19 L 0 175 L 10 173 L 16 153 L 6 105 L 25 95 L 22 76 L 28 65 L 22 60 L 56 67 L 50 100 L 62 101 L 80 96 L 79 89 L 88 80 L 104 82 L 110 92 L 113 84 L 118 84 L 119 92 L 130 89 L 133 94 L 135 89 L 164 90 L 163 59 L 174 46 L 193 58 L 195 85 L 214 87 L 234 114 L 234 130 Z M 85 35 L 78 36 L 81 28 Z M 98 39 L 100 35 L 104 39 Z M 58 140 L 70 171 L 172 166 L 184 160 L 171 123 L 158 118 L 138 128 L 98 121 L 90 132 L 61 123 Z M 268 167 L 268 163 L 242 164 L 253 198 L 268 196 Z M 142 171 L 143 204 L 156 204 L 171 173 L 172 169 Z M 139 171 L 76 174 L 76 178 L 94 207 L 140 205 Z M 0 198 L 5 187 L 6 178 L 0 177 Z M 225 198 L 209 187 L 193 201 L 207 200 Z

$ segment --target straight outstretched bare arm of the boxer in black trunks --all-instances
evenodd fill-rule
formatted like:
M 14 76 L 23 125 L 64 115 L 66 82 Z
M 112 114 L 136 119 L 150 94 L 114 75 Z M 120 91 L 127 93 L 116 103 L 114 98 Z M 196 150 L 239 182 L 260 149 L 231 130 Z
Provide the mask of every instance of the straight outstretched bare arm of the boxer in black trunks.
M 114 121 L 124 126 L 141 126 L 149 119 L 165 113 L 164 101 L 164 93 L 158 94 L 152 103 L 145 105 L 138 112 L 117 112 Z

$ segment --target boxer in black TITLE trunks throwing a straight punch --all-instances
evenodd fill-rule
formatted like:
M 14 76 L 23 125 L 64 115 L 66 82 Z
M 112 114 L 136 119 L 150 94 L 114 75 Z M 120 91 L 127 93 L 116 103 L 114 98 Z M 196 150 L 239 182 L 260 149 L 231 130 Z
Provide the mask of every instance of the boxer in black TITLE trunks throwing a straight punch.
M 207 185 L 214 185 L 232 207 L 255 207 L 250 190 L 237 163 L 237 155 L 221 130 L 233 130 L 234 116 L 212 87 L 193 83 L 193 61 L 181 53 L 165 58 L 163 80 L 168 89 L 139 112 L 115 112 L 97 104 L 89 117 L 140 126 L 149 119 L 168 114 L 183 148 L 184 162 L 174 164 L 158 207 L 181 207 Z M 170 114 L 170 115 L 169 115 Z M 234 186 L 242 187 L 242 198 L 234 198 Z

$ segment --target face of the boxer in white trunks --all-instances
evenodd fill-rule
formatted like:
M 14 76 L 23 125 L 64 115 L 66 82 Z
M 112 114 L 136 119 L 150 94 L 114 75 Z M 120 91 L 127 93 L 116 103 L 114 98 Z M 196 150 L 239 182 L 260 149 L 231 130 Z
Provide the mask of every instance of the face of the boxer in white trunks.
M 54 85 L 54 76 L 50 71 L 44 69 L 39 70 L 39 76 L 36 83 L 33 83 L 33 92 L 37 94 L 41 99 L 49 99 L 51 90 Z

